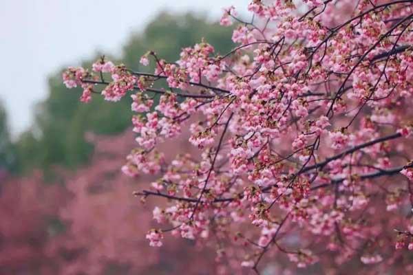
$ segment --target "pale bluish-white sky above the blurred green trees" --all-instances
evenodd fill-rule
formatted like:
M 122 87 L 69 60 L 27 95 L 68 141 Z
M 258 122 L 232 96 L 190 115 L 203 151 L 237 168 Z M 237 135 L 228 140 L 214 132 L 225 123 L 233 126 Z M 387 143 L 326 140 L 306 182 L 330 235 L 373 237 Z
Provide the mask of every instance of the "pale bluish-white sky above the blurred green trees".
M 32 124 L 34 104 L 47 96 L 47 75 L 76 65 L 96 50 L 120 54 L 131 31 L 160 10 L 245 10 L 249 0 L 1 0 L 0 99 L 16 135 Z

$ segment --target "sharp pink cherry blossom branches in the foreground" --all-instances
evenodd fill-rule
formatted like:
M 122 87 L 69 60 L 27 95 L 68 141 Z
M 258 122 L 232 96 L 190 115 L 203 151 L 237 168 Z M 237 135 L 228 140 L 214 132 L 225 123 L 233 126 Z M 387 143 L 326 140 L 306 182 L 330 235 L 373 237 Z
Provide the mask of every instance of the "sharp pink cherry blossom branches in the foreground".
M 268 252 L 290 261 L 287 269 L 357 260 L 412 270 L 392 266 L 409 257 L 407 235 L 397 240 L 394 229 L 413 223 L 405 218 L 413 206 L 412 2 L 268 2 L 248 5 L 251 21 L 224 10 L 222 25 L 240 23 L 228 54 L 202 41 L 175 63 L 142 56 L 142 65 L 153 58 L 153 74 L 94 65 L 110 67 L 111 83 L 94 82 L 106 85 L 105 99 L 137 91 L 138 148 L 123 171 L 161 173 L 136 195 L 169 201 L 153 211 L 165 229 L 147 238 L 153 246 L 165 232 L 215 242 L 218 255 L 240 245 L 243 257 L 227 256 L 255 271 Z M 74 87 L 96 77 L 70 68 L 63 79 Z M 156 88 L 159 80 L 168 89 Z M 167 160 L 158 149 L 178 135 L 195 148 Z M 389 250 L 394 243 L 401 250 Z

